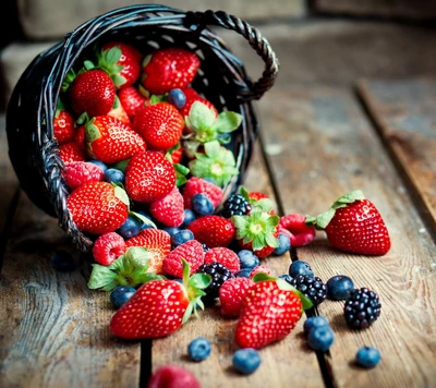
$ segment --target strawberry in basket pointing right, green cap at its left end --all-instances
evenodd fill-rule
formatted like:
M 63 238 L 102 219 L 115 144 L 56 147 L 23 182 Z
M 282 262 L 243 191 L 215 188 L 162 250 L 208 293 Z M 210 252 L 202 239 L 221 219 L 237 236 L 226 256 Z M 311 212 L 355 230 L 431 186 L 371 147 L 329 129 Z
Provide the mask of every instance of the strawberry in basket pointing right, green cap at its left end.
M 105 163 L 116 163 L 145 150 L 144 140 L 120 120 L 99 116 L 86 123 L 88 153 Z

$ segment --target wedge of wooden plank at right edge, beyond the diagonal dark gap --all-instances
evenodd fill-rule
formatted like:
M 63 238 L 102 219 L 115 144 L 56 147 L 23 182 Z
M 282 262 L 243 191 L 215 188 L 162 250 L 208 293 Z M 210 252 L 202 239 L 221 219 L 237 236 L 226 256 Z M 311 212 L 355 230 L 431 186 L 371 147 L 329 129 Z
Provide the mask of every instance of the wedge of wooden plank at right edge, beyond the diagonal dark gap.
M 436 231 L 436 80 L 362 81 L 358 88 Z

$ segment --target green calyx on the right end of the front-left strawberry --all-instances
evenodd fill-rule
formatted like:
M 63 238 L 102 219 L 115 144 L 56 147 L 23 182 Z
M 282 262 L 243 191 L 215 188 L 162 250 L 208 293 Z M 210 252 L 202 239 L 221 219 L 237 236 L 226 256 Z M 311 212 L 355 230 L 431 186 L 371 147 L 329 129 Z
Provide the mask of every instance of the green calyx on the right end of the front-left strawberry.
M 205 306 L 202 296 L 206 295 L 206 292 L 203 290 L 211 283 L 211 276 L 198 272 L 190 277 L 190 265 L 184 258 L 182 258 L 182 264 L 183 286 L 190 300 L 190 304 L 187 305 L 182 319 L 182 324 L 185 324 L 193 313 L 195 317 L 198 317 L 197 306 L 204 311 Z

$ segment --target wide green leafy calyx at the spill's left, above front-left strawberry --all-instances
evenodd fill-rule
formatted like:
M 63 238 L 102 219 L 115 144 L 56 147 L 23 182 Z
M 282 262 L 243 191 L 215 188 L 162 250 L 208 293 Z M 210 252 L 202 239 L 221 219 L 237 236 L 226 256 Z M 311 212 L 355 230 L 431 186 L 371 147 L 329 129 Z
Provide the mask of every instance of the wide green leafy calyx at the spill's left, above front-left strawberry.
M 154 253 L 143 246 L 132 246 L 110 266 L 93 264 L 88 288 L 112 291 L 118 286 L 137 287 L 152 280 L 165 279 L 164 276 L 147 272 L 148 260 L 153 256 Z

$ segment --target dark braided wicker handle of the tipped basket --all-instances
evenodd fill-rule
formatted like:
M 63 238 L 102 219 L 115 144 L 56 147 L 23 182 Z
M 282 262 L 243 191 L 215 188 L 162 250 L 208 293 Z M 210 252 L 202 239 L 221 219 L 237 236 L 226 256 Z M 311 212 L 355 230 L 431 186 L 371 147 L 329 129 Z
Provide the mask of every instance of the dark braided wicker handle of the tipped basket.
M 262 77 L 255 83 L 250 83 L 247 85 L 249 88 L 242 88 L 239 92 L 241 97 L 246 100 L 259 99 L 274 85 L 280 63 L 268 40 L 255 27 L 223 11 L 187 12 L 186 16 L 187 20 L 196 21 L 196 24 L 199 24 L 199 26 L 217 25 L 227 29 L 233 29 L 249 40 L 250 46 L 264 60 L 265 70 L 262 73 Z

